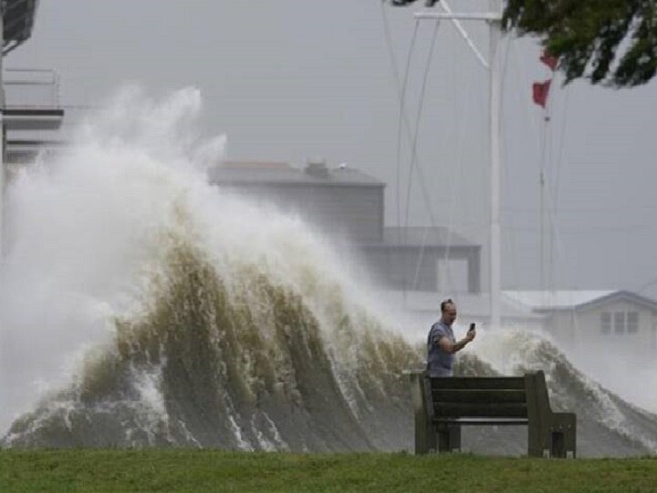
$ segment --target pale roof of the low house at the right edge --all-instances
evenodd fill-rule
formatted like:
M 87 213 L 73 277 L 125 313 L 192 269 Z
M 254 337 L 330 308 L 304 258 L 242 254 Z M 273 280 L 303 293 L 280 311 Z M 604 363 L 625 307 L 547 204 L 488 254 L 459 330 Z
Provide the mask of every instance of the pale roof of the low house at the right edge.
M 637 293 L 622 290 L 601 291 L 505 291 L 505 296 L 531 307 L 536 312 L 580 310 L 612 301 L 631 301 L 657 309 L 657 302 Z

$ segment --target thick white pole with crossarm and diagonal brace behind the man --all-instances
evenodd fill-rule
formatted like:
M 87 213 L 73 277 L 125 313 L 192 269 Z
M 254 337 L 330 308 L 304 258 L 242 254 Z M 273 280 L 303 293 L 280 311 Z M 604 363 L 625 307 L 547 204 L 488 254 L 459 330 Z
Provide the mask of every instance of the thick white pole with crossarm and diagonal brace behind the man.
M 488 70 L 488 132 L 490 152 L 490 327 L 499 328 L 502 323 L 500 298 L 502 295 L 502 247 L 500 226 L 500 113 L 502 101 L 502 81 L 500 64 L 497 59 L 497 46 L 502 37 L 502 0 L 489 0 L 489 12 L 483 13 L 454 13 L 444 0 L 439 3 L 443 12 L 420 12 L 415 14 L 416 19 L 447 19 L 454 23 L 454 27 L 464 37 L 467 45 L 474 55 Z M 488 61 L 474 46 L 460 21 L 485 21 L 489 26 Z

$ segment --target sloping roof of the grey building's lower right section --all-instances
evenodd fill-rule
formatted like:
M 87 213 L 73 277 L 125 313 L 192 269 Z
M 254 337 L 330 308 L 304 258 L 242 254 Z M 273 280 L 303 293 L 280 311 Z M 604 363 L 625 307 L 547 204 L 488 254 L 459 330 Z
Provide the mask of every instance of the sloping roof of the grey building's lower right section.
M 390 247 L 468 247 L 481 248 L 473 241 L 443 227 L 410 227 L 401 228 L 389 226 L 383 229 L 382 246 Z

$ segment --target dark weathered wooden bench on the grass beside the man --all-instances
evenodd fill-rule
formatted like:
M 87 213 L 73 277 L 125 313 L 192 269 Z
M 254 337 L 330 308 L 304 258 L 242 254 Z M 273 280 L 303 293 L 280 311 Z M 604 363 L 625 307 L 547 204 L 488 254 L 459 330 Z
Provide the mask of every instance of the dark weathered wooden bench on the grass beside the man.
M 575 457 L 577 419 L 554 413 L 543 372 L 429 377 L 412 372 L 415 453 L 461 449 L 461 426 L 527 425 L 529 457 Z

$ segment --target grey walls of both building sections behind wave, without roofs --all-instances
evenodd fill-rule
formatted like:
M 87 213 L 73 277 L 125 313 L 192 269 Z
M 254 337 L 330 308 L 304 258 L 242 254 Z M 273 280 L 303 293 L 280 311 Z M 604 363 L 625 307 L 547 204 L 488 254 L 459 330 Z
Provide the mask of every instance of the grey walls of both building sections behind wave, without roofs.
M 224 180 L 226 178 L 224 177 Z M 248 200 L 298 214 L 334 241 L 359 246 L 360 260 L 382 287 L 392 290 L 452 293 L 481 291 L 480 248 L 476 245 L 419 247 L 384 241 L 383 184 L 312 181 L 220 181 L 215 183 Z M 439 269 L 439 261 L 449 255 Z

